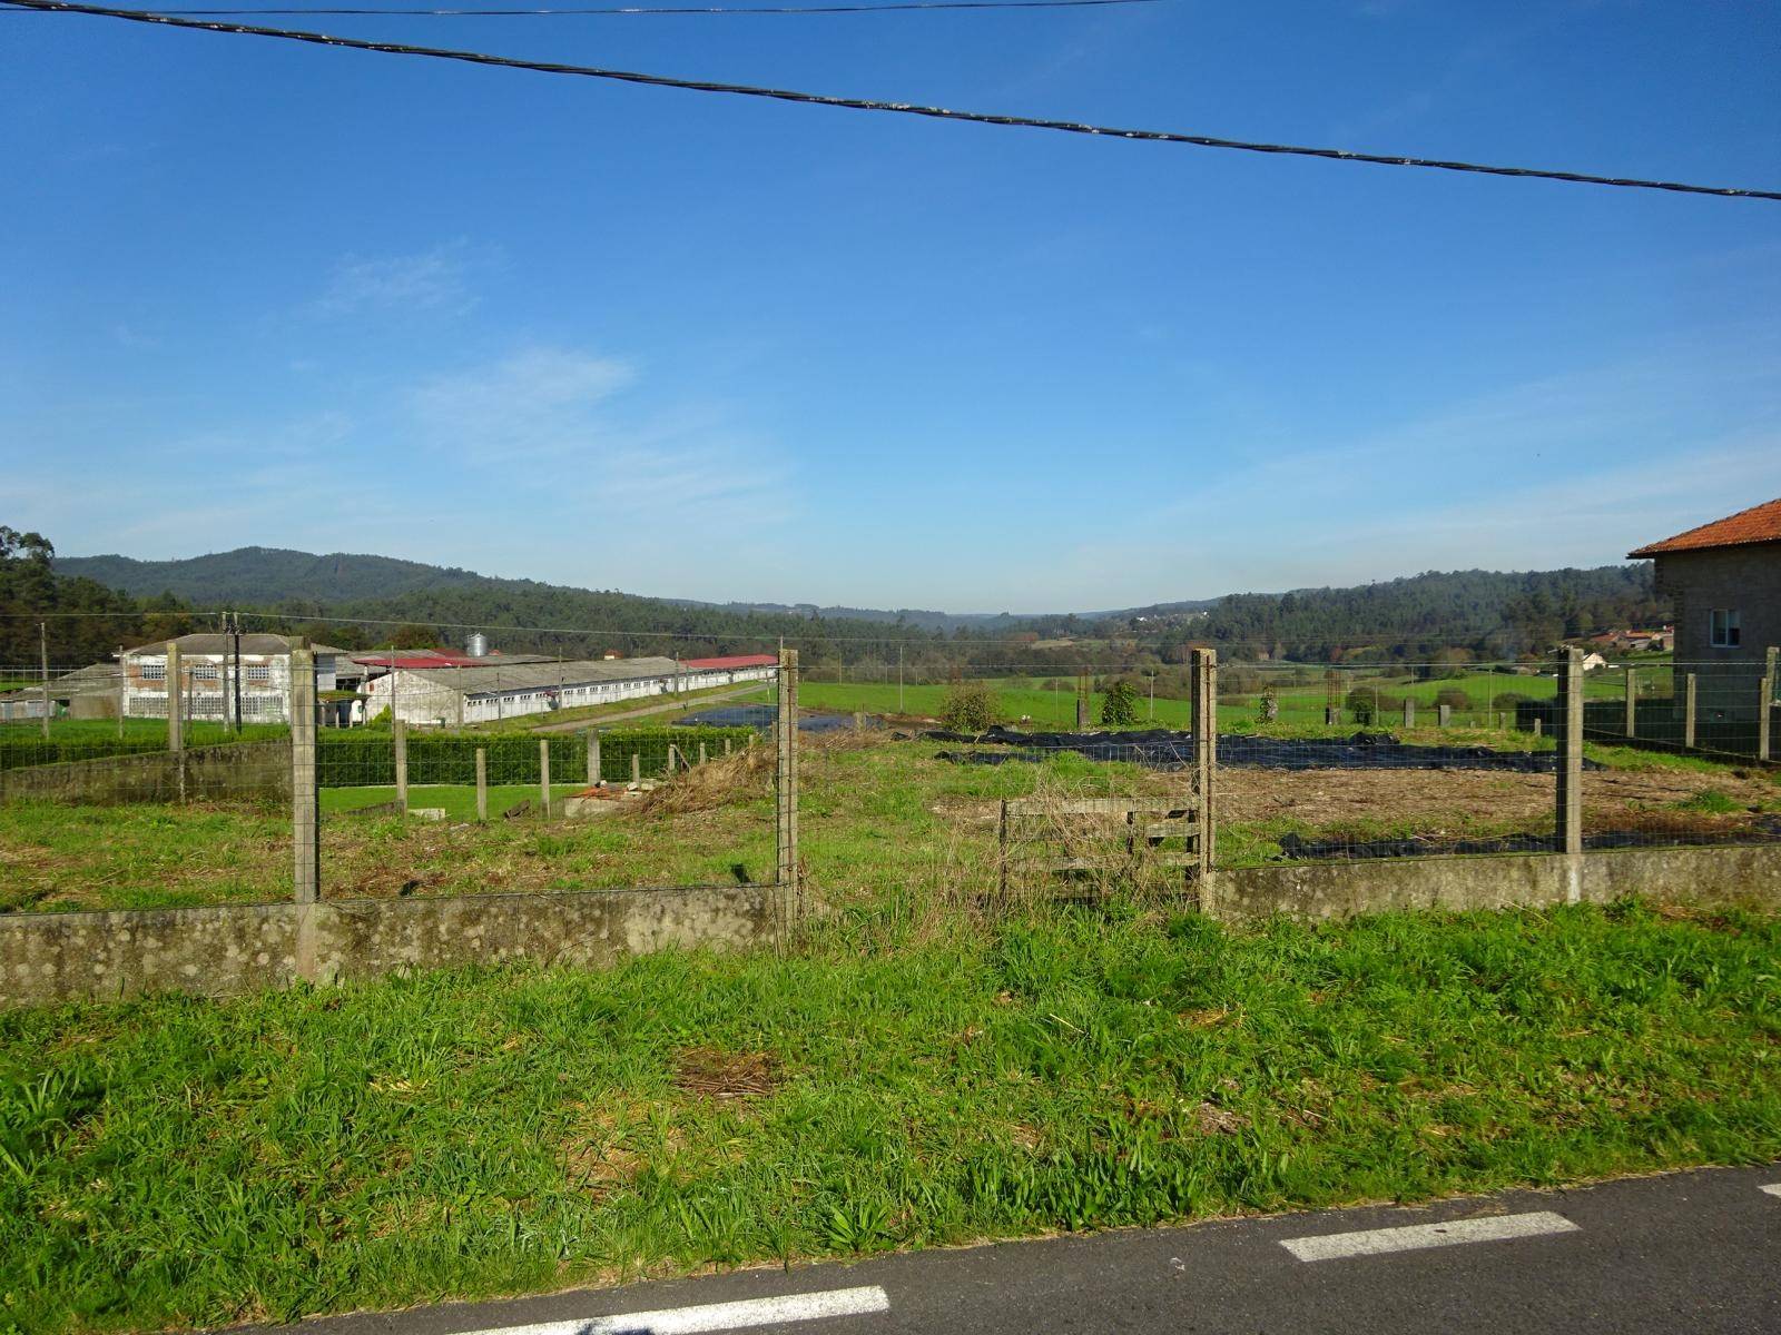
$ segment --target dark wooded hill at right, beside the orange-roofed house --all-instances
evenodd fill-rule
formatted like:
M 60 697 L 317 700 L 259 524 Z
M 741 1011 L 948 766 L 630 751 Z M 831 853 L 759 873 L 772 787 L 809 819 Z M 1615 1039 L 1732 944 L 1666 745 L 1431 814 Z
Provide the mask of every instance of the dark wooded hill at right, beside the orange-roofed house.
M 1350 589 L 1234 593 L 1195 627 L 1232 657 L 1343 657 L 1384 648 L 1416 657 L 1466 648 L 1478 657 L 1544 651 L 1560 639 L 1669 621 L 1649 564 L 1501 573 L 1430 571 Z

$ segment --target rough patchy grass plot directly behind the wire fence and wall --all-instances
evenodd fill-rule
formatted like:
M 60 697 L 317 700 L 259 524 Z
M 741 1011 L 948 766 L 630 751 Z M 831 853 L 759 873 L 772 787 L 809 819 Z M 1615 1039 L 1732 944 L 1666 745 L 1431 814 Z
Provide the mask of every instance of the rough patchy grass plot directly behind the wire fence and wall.
M 1322 728 L 1277 728 L 1322 733 Z M 1341 730 L 1338 730 L 1341 732 Z M 1346 730 L 1346 732 L 1352 732 Z M 1525 733 L 1414 730 L 1421 744 L 1549 749 Z M 1179 773 L 1097 764 L 1070 753 L 1045 764 L 958 765 L 937 742 L 842 732 L 805 740 L 801 853 L 810 885 L 834 902 L 890 895 L 974 901 L 997 886 L 1003 797 L 1044 794 L 1175 797 Z M 1781 785 L 1731 765 L 1589 746 L 1610 765 L 1585 780 L 1592 829 L 1653 826 L 1726 833 L 1781 810 Z M 595 817 L 502 819 L 538 797 L 536 783 L 497 785 L 477 824 L 470 785 L 410 789 L 411 806 L 445 821 L 354 815 L 394 787 L 322 789 L 324 897 L 486 890 L 730 885 L 773 876 L 773 756 L 753 748 L 716 758 Z M 579 785 L 554 785 L 554 797 Z M 1288 837 L 1366 842 L 1549 835 L 1551 774 L 1336 769 L 1282 773 L 1225 765 L 1220 862 L 1279 860 Z M 0 911 L 150 908 L 283 899 L 289 813 L 255 806 L 0 806 Z

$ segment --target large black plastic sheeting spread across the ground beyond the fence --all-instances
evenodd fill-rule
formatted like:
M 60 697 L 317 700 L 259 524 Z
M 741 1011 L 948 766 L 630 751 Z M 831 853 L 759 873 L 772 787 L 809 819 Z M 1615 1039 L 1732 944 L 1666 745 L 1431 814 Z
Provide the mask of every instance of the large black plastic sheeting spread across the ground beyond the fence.
M 1151 728 L 1145 732 L 928 732 L 935 742 L 1008 746 L 1008 751 L 940 751 L 939 760 L 960 765 L 1001 765 L 1010 760 L 1038 762 L 1047 755 L 1074 751 L 1090 760 L 1124 760 L 1149 769 L 1184 769 L 1193 764 L 1193 733 Z M 1252 737 L 1222 733 L 1220 765 L 1256 769 L 1496 769 L 1512 774 L 1553 774 L 1557 751 L 1492 751 L 1487 746 L 1411 746 L 1384 732 L 1354 737 Z M 1585 760 L 1583 769 L 1603 769 Z

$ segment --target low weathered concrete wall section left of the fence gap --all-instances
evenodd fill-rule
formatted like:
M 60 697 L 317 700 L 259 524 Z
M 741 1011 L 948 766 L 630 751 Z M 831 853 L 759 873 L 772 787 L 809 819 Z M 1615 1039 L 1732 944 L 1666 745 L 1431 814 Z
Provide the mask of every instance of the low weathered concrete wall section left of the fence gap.
M 778 897 L 750 885 L 11 913 L 0 915 L 0 1006 L 232 997 L 502 959 L 604 968 L 664 947 L 771 943 Z

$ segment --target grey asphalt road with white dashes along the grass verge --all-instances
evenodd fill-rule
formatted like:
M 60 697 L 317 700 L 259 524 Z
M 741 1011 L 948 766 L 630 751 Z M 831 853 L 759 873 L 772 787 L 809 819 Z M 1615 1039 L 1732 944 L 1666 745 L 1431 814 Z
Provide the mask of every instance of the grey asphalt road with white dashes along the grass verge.
M 513 1328 L 527 1328 L 525 1335 L 1781 1331 L 1781 1166 L 1421 1209 L 1004 1242 L 333 1317 L 296 1330 Z

